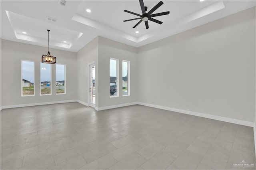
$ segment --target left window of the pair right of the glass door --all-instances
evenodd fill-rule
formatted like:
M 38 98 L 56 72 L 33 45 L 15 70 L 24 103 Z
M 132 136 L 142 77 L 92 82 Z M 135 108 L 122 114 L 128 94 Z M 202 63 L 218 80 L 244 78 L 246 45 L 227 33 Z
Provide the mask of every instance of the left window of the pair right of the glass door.
M 118 97 L 118 59 L 110 58 L 110 97 Z

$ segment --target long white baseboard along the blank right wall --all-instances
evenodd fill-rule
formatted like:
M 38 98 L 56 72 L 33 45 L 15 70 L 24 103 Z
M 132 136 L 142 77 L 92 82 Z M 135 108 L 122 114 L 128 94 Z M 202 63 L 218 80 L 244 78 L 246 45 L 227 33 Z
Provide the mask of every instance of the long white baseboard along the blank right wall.
M 208 119 L 224 121 L 224 122 L 228 122 L 228 123 L 235 123 L 235 124 L 238 124 L 238 125 L 244 125 L 244 126 L 248 126 L 248 127 L 254 127 L 254 124 L 255 124 L 253 122 L 241 121 L 241 120 L 238 120 L 238 119 L 231 119 L 231 118 L 227 118 L 227 117 L 208 115 L 208 114 L 205 114 L 205 113 L 186 111 L 186 110 L 182 110 L 182 109 L 175 109 L 175 108 L 171 108 L 171 107 L 152 105 L 152 104 L 148 104 L 148 103 L 138 102 L 138 105 L 154 107 L 154 108 L 158 108 L 158 109 L 164 109 L 164 110 L 167 110 L 167 111 L 174 111 L 174 112 L 178 112 L 178 113 L 184 113 L 184 114 L 187 114 L 187 115 L 194 115 L 194 116 L 204 117 L 204 118 L 208 118 Z

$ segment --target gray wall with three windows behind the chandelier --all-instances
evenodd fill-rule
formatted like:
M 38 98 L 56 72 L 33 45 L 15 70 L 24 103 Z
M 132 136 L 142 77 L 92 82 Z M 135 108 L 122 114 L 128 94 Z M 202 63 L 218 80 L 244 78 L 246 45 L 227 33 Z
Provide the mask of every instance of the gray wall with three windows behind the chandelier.
M 66 95 L 56 95 L 52 86 L 52 95 L 40 96 L 40 63 L 47 51 L 47 47 L 1 40 L 1 106 L 76 99 L 76 53 L 58 49 L 50 49 L 50 53 L 57 57 L 57 63 L 66 64 Z M 34 61 L 35 96 L 21 97 L 21 60 Z M 55 79 L 56 67 L 52 65 L 52 82 Z

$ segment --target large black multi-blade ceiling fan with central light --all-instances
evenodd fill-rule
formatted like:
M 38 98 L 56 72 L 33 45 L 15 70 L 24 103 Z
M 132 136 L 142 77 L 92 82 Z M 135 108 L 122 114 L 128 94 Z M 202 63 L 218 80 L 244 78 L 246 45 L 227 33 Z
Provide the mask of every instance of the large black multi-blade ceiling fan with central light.
M 134 27 L 132 28 L 135 28 L 136 26 L 138 26 L 142 21 L 145 22 L 145 26 L 146 26 L 146 29 L 148 29 L 148 20 L 150 21 L 153 21 L 153 22 L 156 22 L 158 24 L 162 24 L 163 22 L 159 21 L 159 20 L 156 20 L 152 17 L 155 17 L 155 16 L 162 16 L 162 15 L 168 15 L 170 14 L 170 11 L 168 12 L 160 12 L 160 13 L 157 13 L 157 14 L 152 14 L 155 10 L 157 10 L 162 4 L 164 4 L 164 2 L 160 1 L 158 2 L 158 4 L 156 4 L 156 6 L 154 6 L 148 13 L 146 13 L 146 11 L 148 10 L 148 7 L 144 6 L 144 2 L 143 0 L 139 0 L 140 1 L 140 8 L 141 8 L 141 11 L 142 11 L 142 15 L 140 14 L 136 14 L 134 12 L 130 12 L 128 10 L 124 10 L 124 12 L 128 12 L 130 14 L 134 14 L 136 16 L 140 16 L 140 18 L 134 18 L 134 19 L 130 19 L 130 20 L 124 20 L 124 22 L 127 22 L 127 21 L 132 21 L 132 20 L 139 20 L 141 19 Z

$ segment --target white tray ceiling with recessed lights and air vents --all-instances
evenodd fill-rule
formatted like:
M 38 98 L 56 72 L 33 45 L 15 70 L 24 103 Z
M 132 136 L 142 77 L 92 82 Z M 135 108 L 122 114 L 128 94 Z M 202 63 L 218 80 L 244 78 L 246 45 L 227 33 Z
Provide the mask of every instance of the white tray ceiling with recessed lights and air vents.
M 144 5 L 149 11 L 159 1 L 144 0 Z M 139 0 L 68 0 L 66 6 L 55 0 L 1 0 L 1 38 L 48 47 L 49 29 L 50 48 L 77 52 L 96 36 L 140 47 L 256 5 L 255 0 L 162 1 L 164 4 L 153 14 L 170 14 L 155 17 L 163 24 L 149 21 L 146 29 L 143 22 L 132 28 L 139 20 L 123 22 L 138 18 L 124 10 L 142 13 Z M 57 21 L 47 20 L 47 16 Z

